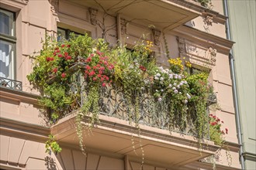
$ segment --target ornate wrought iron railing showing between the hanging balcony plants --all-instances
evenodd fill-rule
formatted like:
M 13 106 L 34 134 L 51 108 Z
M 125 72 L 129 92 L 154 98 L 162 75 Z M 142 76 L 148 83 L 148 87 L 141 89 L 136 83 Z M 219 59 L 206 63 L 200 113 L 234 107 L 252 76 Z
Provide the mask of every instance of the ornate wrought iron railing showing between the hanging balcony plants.
M 67 93 L 79 93 L 79 95 L 77 95 L 78 98 L 75 99 L 76 104 L 64 109 L 64 112 L 62 112 L 64 116 L 81 108 L 88 96 L 88 92 L 85 90 L 88 89 L 88 83 L 79 71 L 81 68 L 85 67 L 85 65 L 86 64 L 83 62 L 78 62 L 68 70 L 68 73 L 73 74 L 73 76 L 70 81 L 71 83 L 69 84 L 70 91 Z M 58 81 L 58 79 L 52 77 L 48 83 L 54 83 L 56 81 Z M 113 84 L 112 87 L 102 87 L 99 95 L 99 114 L 104 114 L 109 117 L 117 117 L 126 121 L 137 121 L 139 124 L 145 124 L 150 127 L 171 129 L 171 131 L 176 131 L 178 133 L 196 136 L 196 134 L 191 133 L 192 129 L 195 130 L 195 124 L 192 120 L 188 120 L 185 128 L 182 130 L 175 126 L 175 124 L 170 123 L 171 119 L 173 120 L 173 117 L 170 117 L 170 114 L 168 114 L 170 107 L 168 106 L 168 101 L 165 101 L 168 100 L 168 98 L 161 100 L 161 102 L 157 102 L 147 90 L 141 90 L 139 96 L 139 115 L 137 115 L 135 113 L 135 108 L 130 107 L 129 101 L 121 86 Z M 215 94 L 209 96 L 207 106 L 214 103 L 216 103 Z M 179 121 L 180 118 L 181 117 L 177 117 L 176 121 Z M 207 135 L 208 134 L 206 134 L 205 138 L 209 138 Z

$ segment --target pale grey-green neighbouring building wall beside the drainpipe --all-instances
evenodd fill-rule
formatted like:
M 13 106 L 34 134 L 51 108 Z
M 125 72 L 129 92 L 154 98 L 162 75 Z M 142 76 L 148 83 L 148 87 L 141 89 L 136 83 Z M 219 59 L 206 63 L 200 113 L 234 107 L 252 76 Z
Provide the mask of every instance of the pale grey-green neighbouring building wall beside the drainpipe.
M 228 2 L 230 39 L 233 47 L 234 70 L 237 80 L 237 101 L 241 122 L 245 168 L 256 168 L 255 137 L 255 2 Z M 237 15 L 236 11 L 241 15 Z M 243 31 L 240 31 L 243 30 Z M 245 76 L 246 75 L 246 76 Z

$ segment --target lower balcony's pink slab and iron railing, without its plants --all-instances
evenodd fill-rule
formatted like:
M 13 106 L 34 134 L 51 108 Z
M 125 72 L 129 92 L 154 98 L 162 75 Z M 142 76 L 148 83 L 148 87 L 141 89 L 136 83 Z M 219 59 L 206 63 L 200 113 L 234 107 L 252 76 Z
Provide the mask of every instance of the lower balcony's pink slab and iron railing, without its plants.
M 88 83 L 80 72 L 86 63 L 78 59 L 78 63 L 71 66 L 67 73 L 72 74 L 71 92 L 78 93 L 86 89 Z M 54 83 L 56 77 L 52 77 L 48 83 Z M 81 93 L 75 107 L 64 109 L 64 117 L 51 128 L 57 141 L 63 145 L 79 145 L 76 134 L 75 117 L 79 114 L 79 108 L 85 103 L 88 93 Z M 216 102 L 215 97 L 210 97 L 208 104 Z M 140 114 L 136 117 L 134 107 L 127 107 L 126 95 L 122 87 L 114 84 L 112 87 L 102 87 L 99 97 L 99 123 L 92 128 L 92 134 L 86 135 L 86 151 L 105 151 L 114 155 L 128 155 L 131 160 L 138 161 L 144 151 L 145 162 L 161 167 L 173 168 L 194 162 L 209 155 L 213 155 L 219 147 L 212 141 L 204 141 L 201 151 L 199 143 L 191 130 L 193 124 L 182 131 L 174 127 L 170 132 L 170 117 L 168 106 L 157 103 L 154 97 L 143 90 L 140 93 Z M 129 113 L 129 114 L 128 114 Z M 132 117 L 130 115 L 133 115 Z M 83 124 L 90 125 L 92 114 L 88 114 Z M 138 124 L 134 123 L 137 122 Z M 140 127 L 138 129 L 138 127 Z M 205 138 L 209 138 L 206 134 Z M 143 148 L 143 150 L 141 150 Z

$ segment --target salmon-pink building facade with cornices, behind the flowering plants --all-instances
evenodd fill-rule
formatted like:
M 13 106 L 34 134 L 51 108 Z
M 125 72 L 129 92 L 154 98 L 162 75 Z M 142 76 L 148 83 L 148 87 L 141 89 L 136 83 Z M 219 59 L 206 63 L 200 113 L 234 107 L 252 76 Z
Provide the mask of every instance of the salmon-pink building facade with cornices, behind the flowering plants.
M 194 1 L 2 0 L 1 38 L 1 169 L 240 169 L 229 53 L 223 2 L 211 8 Z M 86 154 L 79 149 L 74 112 L 49 125 L 38 104 L 39 92 L 26 78 L 46 35 L 88 32 L 132 48 L 146 35 L 154 42 L 157 64 L 168 56 L 185 58 L 196 69 L 209 70 L 220 107 L 210 108 L 229 129 L 227 149 L 202 143 L 187 134 L 140 125 L 140 137 L 128 121 L 99 115 L 100 124 L 85 132 Z M 167 46 L 167 48 L 166 48 Z M 48 134 L 60 143 L 60 154 L 45 153 Z M 249 135 L 249 134 L 248 134 Z M 250 138 L 250 137 L 248 137 Z M 143 157 L 141 155 L 144 155 Z M 232 158 L 232 162 L 227 161 Z M 144 161 L 142 161 L 144 158 Z M 144 162 L 141 166 L 141 162 Z M 231 163 L 231 164 L 230 164 Z

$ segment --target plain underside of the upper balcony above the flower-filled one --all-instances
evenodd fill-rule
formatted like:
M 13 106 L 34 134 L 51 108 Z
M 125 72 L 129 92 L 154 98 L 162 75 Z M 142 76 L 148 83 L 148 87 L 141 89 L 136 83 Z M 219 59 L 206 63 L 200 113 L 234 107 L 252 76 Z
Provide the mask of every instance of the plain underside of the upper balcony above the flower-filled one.
M 123 19 L 133 23 L 157 29 L 174 29 L 189 22 L 199 12 L 167 0 L 72 0 L 78 5 L 85 5 L 107 12 L 109 15 L 121 14 Z

